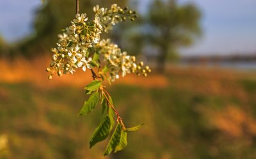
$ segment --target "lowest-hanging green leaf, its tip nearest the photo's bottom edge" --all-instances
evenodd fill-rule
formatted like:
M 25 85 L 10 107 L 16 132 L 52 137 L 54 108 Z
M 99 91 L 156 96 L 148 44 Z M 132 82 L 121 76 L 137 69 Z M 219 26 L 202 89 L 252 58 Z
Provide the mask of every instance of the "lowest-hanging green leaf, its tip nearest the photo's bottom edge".
M 104 152 L 104 156 L 109 155 L 116 146 L 118 146 L 120 139 L 121 139 L 121 133 L 122 133 L 122 126 L 120 123 L 116 125 L 115 131 L 113 132 L 113 135 L 111 136 L 111 139 L 108 142 L 108 146 Z

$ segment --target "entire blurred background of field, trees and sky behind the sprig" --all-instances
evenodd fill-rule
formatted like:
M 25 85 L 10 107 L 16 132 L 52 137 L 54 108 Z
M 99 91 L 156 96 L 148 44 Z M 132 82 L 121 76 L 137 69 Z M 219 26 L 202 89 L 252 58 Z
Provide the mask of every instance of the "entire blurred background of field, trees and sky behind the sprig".
M 256 158 L 256 1 L 80 0 L 138 10 L 110 37 L 152 66 L 107 86 L 126 125 L 124 151 L 106 158 Z M 90 72 L 47 80 L 57 34 L 75 1 L 0 2 L 0 158 L 102 158 L 89 149 L 101 109 L 77 117 Z M 106 35 L 104 35 L 106 37 Z

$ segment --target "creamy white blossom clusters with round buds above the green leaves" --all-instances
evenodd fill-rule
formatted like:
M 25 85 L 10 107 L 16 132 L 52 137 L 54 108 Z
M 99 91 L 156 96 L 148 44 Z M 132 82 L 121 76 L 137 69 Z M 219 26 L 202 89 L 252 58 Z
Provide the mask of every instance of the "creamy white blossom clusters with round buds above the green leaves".
M 116 4 L 108 8 L 93 7 L 95 12 L 95 19 L 92 22 L 88 21 L 86 13 L 77 14 L 76 19 L 72 20 L 71 26 L 67 27 L 63 34 L 58 35 L 57 47 L 52 50 L 52 62 L 46 69 L 51 72 L 49 79 L 52 79 L 54 72 L 59 76 L 63 73 L 76 72 L 77 68 L 92 69 L 92 57 L 95 53 L 101 54 L 105 61 L 108 61 L 109 75 L 112 80 L 122 76 L 126 73 L 136 72 L 147 76 L 151 70 L 147 67 L 142 69 L 143 63 L 135 63 L 135 57 L 127 55 L 126 52 L 121 52 L 117 45 L 111 43 L 110 40 L 101 40 L 100 34 L 102 31 L 108 33 L 113 25 L 118 22 L 125 21 L 127 18 L 134 20 L 137 18 L 136 11 L 127 10 L 127 8 L 120 8 Z

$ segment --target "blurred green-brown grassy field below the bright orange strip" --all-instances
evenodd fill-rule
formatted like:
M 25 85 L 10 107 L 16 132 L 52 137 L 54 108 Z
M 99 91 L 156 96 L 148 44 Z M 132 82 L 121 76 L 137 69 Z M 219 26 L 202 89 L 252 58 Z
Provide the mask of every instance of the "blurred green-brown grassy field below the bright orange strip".
M 255 158 L 255 77 L 193 70 L 173 70 L 167 77 L 166 87 L 115 85 L 109 90 L 125 123 L 145 122 L 129 134 L 129 146 L 109 158 Z M 77 117 L 83 97 L 76 87 L 1 83 L 6 158 L 102 158 L 107 143 L 92 149 L 88 144 L 102 112 Z

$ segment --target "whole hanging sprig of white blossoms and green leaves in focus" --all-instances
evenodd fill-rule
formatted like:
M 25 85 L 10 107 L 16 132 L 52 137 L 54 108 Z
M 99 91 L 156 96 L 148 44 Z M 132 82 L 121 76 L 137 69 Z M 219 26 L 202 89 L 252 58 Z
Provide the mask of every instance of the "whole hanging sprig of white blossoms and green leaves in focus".
M 46 70 L 51 73 L 49 79 L 52 79 L 54 73 L 61 76 L 68 73 L 73 74 L 78 68 L 82 68 L 84 72 L 91 70 L 93 82 L 84 89 L 87 95 L 92 95 L 84 102 L 79 115 L 92 112 L 99 102 L 105 112 L 106 117 L 95 130 L 90 141 L 90 148 L 108 137 L 115 125 L 116 116 L 116 129 L 104 152 L 104 155 L 108 155 L 111 151 L 124 149 L 127 144 L 127 132 L 138 130 L 141 125 L 125 128 L 122 118 L 113 105 L 111 96 L 105 86 L 102 86 L 102 81 L 105 79 L 109 82 L 115 81 L 120 75 L 124 77 L 127 73 L 147 76 L 151 70 L 148 66 L 143 66 L 143 62 L 136 63 L 136 57 L 122 52 L 118 45 L 111 42 L 110 39 L 100 39 L 103 31 L 108 33 L 118 22 L 124 22 L 127 19 L 134 21 L 137 18 L 136 11 L 120 8 L 117 4 L 113 4 L 110 10 L 99 8 L 97 5 L 93 7 L 93 11 L 95 18 L 92 22 L 88 21 L 86 13 L 77 13 L 71 26 L 66 27 L 63 33 L 58 35 L 57 47 L 51 49 L 52 61 Z M 93 68 L 97 69 L 97 72 Z

